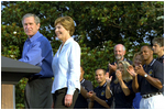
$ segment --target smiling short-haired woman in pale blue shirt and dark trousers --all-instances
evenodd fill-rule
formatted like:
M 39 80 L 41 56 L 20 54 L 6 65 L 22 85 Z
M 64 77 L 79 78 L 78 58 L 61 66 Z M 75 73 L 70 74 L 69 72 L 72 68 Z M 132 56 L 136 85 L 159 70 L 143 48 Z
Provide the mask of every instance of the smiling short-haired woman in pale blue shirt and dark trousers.
M 54 82 L 52 86 L 55 109 L 74 109 L 80 90 L 80 46 L 72 37 L 75 23 L 70 16 L 55 20 L 55 33 L 62 41 L 52 63 Z

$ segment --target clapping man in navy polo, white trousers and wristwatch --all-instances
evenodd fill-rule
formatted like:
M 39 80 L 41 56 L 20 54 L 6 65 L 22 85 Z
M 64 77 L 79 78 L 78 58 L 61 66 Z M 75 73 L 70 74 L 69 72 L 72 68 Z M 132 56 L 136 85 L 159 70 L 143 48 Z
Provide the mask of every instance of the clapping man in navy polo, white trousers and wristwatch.
M 140 91 L 142 95 L 140 109 L 161 109 L 164 106 L 160 102 L 160 100 L 163 100 L 164 67 L 153 58 L 151 46 L 142 46 L 141 55 L 144 66 L 135 67 L 135 73 L 133 67 L 129 67 L 129 73 L 133 76 L 132 88 L 135 92 Z

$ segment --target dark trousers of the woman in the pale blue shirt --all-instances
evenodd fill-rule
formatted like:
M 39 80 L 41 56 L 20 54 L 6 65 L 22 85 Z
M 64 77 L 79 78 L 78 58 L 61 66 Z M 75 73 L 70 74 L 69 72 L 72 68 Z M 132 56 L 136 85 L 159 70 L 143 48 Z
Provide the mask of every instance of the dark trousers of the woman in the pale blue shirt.
M 53 94 L 54 109 L 74 109 L 74 106 L 78 97 L 78 91 L 79 90 L 76 89 L 74 92 L 72 106 L 66 107 L 64 100 L 67 92 L 67 88 L 62 88 L 59 90 L 56 90 L 55 94 Z

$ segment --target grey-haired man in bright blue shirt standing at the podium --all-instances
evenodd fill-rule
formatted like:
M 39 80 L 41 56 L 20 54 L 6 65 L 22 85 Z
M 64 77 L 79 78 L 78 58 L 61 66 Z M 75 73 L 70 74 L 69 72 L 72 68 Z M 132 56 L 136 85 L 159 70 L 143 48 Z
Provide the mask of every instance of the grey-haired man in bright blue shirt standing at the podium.
M 25 87 L 26 109 L 51 109 L 52 106 L 52 61 L 53 51 L 48 40 L 40 32 L 40 19 L 28 13 L 22 19 L 25 34 L 29 36 L 24 43 L 20 62 L 40 66 L 42 70 L 35 75 L 26 76 Z

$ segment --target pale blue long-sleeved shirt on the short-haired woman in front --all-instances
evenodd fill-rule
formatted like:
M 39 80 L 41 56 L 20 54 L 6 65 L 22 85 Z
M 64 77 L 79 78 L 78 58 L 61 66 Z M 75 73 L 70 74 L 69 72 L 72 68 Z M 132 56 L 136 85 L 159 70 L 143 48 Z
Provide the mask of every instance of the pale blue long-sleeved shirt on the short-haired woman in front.
M 62 45 L 52 63 L 54 73 L 52 94 L 67 87 L 67 95 L 74 95 L 76 88 L 80 90 L 80 46 L 70 37 L 65 42 L 62 50 L 61 47 Z

